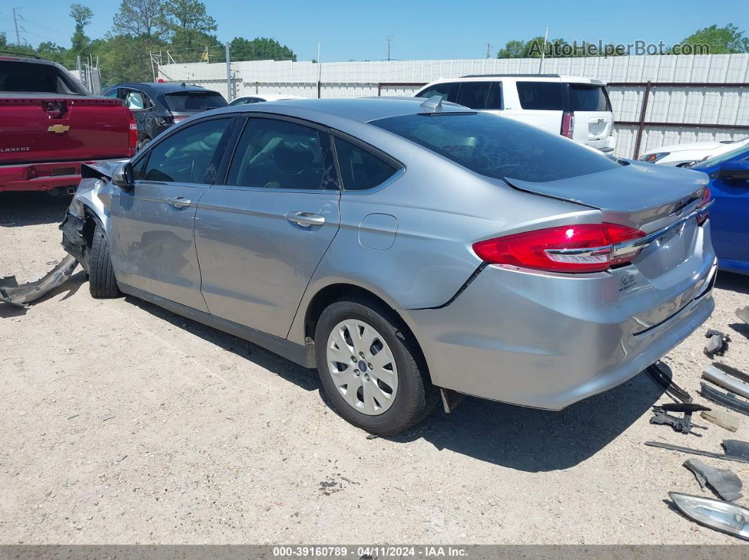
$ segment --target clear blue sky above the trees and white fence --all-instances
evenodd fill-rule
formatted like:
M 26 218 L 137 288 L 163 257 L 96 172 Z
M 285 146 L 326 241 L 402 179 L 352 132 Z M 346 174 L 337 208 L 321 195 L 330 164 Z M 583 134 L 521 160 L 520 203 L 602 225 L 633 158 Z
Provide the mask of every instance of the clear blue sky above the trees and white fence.
M 112 28 L 116 0 L 78 0 L 94 11 L 86 28 L 101 37 Z M 738 25 L 749 34 L 749 1 L 718 0 L 706 10 L 704 0 L 570 2 L 536 0 L 327 0 L 237 1 L 207 0 L 216 19 L 220 41 L 240 36 L 273 37 L 290 47 L 300 61 L 383 60 L 386 37 L 392 37 L 390 56 L 396 60 L 484 58 L 487 43 L 492 56 L 513 39 L 549 37 L 611 43 L 678 43 L 697 29 L 712 24 Z M 678 8 L 676 8 L 678 6 Z M 45 40 L 70 46 L 73 19 L 70 2 L 59 0 L 0 0 L 0 32 L 15 41 L 12 7 L 20 7 L 25 28 L 20 35 L 37 46 Z

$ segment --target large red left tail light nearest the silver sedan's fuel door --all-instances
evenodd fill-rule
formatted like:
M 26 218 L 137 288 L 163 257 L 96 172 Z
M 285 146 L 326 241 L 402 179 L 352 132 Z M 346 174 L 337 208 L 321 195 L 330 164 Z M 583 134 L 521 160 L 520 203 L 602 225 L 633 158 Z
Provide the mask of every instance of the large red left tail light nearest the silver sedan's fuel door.
M 640 252 L 632 247 L 625 257 L 617 257 L 614 245 L 645 235 L 618 224 L 577 224 L 479 241 L 473 250 L 490 264 L 550 272 L 601 272 L 630 262 Z

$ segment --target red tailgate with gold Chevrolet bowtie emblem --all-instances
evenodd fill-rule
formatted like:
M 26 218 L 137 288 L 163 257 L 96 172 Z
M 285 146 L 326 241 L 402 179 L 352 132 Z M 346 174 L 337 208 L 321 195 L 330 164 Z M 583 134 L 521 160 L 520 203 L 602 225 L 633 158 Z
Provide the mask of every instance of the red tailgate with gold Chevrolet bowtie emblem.
M 3 93 L 0 123 L 0 164 L 130 155 L 129 120 L 119 99 Z

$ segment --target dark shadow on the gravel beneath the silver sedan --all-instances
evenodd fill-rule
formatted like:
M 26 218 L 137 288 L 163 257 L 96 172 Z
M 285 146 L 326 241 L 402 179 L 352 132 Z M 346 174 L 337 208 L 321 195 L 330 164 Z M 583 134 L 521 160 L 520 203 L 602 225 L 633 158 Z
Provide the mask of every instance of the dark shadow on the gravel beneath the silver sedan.
M 128 296 L 127 301 L 280 375 L 303 390 L 321 388 L 314 371 L 250 342 L 137 298 Z M 566 469 L 595 455 L 649 410 L 662 393 L 661 387 L 643 372 L 616 389 L 561 412 L 467 398 L 454 412 L 443 413 L 440 406 L 415 428 L 388 439 L 397 443 L 424 439 L 438 449 L 450 449 L 512 469 L 530 472 Z M 330 405 L 322 391 L 321 397 Z

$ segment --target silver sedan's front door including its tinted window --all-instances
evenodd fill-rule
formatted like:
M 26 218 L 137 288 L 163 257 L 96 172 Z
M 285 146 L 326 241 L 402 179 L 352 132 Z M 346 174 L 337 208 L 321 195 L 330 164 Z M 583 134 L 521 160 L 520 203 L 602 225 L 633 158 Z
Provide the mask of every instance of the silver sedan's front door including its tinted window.
M 230 122 L 214 117 L 180 127 L 136 159 L 130 191 L 114 189 L 107 241 L 119 282 L 207 311 L 193 227 Z

